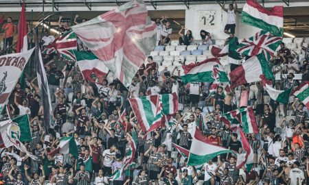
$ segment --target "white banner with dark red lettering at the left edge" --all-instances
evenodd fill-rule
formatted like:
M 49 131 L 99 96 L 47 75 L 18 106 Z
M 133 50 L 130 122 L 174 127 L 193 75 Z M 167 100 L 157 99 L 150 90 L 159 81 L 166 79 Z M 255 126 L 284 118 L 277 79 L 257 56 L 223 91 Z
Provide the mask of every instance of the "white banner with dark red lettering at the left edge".
M 33 51 L 34 49 L 30 49 L 23 53 L 0 56 L 0 112 L 5 108 L 8 97 L 10 97 Z

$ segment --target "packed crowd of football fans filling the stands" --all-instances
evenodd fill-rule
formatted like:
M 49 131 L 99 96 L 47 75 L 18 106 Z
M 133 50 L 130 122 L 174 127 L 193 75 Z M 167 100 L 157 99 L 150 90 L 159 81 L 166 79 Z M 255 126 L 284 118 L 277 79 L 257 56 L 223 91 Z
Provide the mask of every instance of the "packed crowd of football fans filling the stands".
M 224 10 L 229 16 L 225 32 L 233 36 L 233 4 Z M 76 19 L 74 22 L 78 23 Z M 61 18 L 59 24 L 61 33 L 70 30 Z M 158 44 L 168 45 L 172 34 L 170 21 L 162 16 L 157 19 L 157 26 Z M 182 34 L 183 29 L 179 31 L 179 45 L 198 40 L 190 30 Z M 45 47 L 54 38 L 47 33 L 43 41 Z M 202 30 L 198 44 L 211 45 L 210 34 Z M 309 58 L 306 53 L 300 58 L 284 43 L 280 47 L 270 61 L 273 73 L 282 77 L 276 80 L 275 88 L 296 88 L 301 81 L 308 80 Z M 78 49 L 87 51 L 81 42 Z M 256 82 L 231 89 L 231 93 L 225 93 L 219 86 L 215 95 L 209 97 L 211 83 L 184 84 L 177 66 L 172 71 L 168 68 L 159 71 L 159 64 L 152 56 L 148 56 L 128 88 L 111 75 L 97 86 L 83 79 L 75 62 L 54 54 L 43 54 L 43 58 L 52 96 L 53 129 L 45 130 L 36 77 L 26 73 L 27 86 L 21 88 L 21 84 L 16 84 L 10 112 L 13 117 L 29 114 L 32 140 L 25 145 L 39 160 L 32 160 L 14 147 L 3 149 L 0 161 L 3 184 L 309 184 L 308 110 L 293 96 L 288 104 L 280 105 L 269 99 L 261 82 Z M 295 74 L 302 74 L 302 79 L 293 79 Z M 162 125 L 145 137 L 128 99 L 170 93 L 179 97 L 174 124 Z M 250 170 L 237 169 L 237 158 L 231 153 L 216 156 L 201 166 L 188 166 L 187 158 L 172 145 L 190 149 L 192 131 L 198 125 L 211 143 L 242 153 L 240 136 L 220 121 L 220 114 L 247 106 L 255 110 L 259 126 L 258 134 L 247 134 L 254 153 Z M 112 181 L 111 175 L 122 167 L 133 129 L 138 135 L 135 162 Z M 58 147 L 62 136 L 73 136 L 78 155 L 50 153 Z

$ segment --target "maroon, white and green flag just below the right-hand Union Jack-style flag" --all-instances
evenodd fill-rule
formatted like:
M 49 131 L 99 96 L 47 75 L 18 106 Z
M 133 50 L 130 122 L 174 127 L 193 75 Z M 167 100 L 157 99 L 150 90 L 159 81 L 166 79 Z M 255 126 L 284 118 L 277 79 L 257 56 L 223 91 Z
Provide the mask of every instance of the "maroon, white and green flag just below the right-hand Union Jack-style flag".
M 267 79 L 275 79 L 271 67 L 262 53 L 249 58 L 229 73 L 231 88 L 251 82 L 259 82 L 260 75 L 264 75 Z

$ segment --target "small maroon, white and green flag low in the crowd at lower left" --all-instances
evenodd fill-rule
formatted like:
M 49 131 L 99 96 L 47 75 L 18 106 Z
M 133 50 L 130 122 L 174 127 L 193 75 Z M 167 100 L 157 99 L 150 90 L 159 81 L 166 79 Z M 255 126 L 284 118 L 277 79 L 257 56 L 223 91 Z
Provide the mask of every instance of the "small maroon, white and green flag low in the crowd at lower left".
M 58 147 L 49 152 L 49 155 L 54 156 L 56 153 L 68 154 L 71 153 L 78 158 L 78 148 L 73 137 L 62 137 Z

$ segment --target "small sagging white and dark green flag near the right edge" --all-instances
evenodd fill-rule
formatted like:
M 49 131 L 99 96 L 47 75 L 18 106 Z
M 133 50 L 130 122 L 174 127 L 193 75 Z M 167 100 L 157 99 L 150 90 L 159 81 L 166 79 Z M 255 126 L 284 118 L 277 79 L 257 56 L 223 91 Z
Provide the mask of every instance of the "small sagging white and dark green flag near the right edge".
M 262 79 L 262 85 L 264 90 L 266 90 L 268 95 L 271 97 L 271 99 L 279 103 L 288 103 L 288 99 L 290 98 L 290 92 L 292 91 L 293 87 L 288 88 L 288 90 L 277 90 L 271 85 L 269 85 L 267 82 L 265 82 L 265 80 L 265 78 Z

